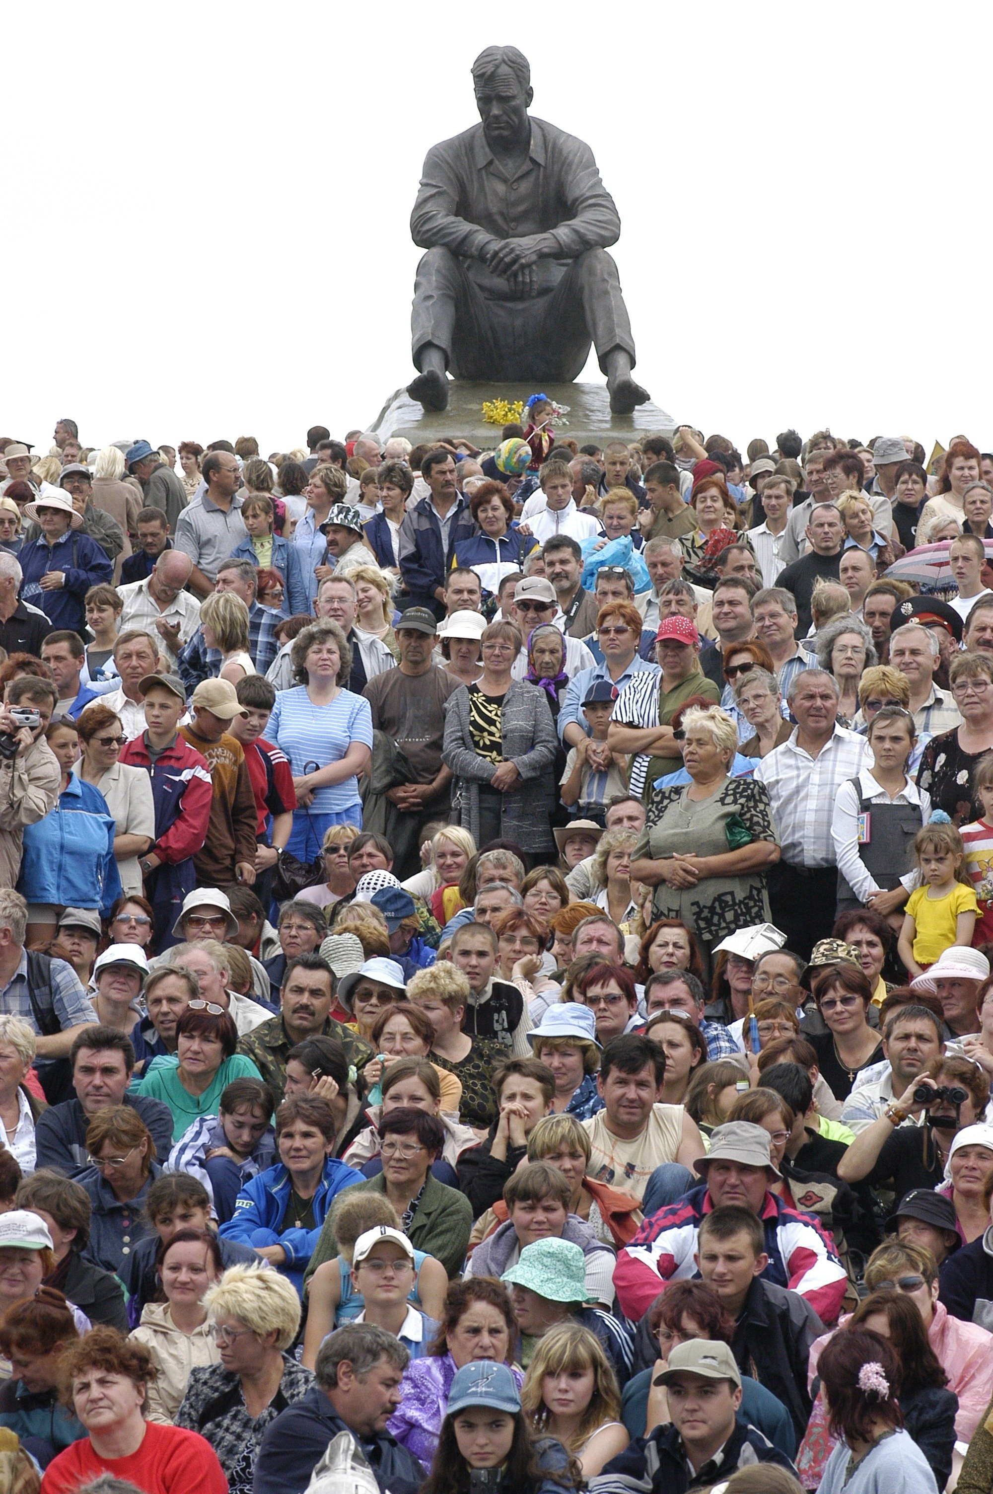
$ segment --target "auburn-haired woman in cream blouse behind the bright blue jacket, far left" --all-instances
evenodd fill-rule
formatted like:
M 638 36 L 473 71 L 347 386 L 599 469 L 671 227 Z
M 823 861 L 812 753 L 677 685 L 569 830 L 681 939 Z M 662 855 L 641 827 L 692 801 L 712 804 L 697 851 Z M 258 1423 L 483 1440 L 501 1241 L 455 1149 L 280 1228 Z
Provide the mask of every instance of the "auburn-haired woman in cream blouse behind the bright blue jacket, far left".
M 142 870 L 137 864 L 155 840 L 155 804 L 152 780 L 143 768 L 118 762 L 125 743 L 121 717 L 109 705 L 94 701 L 76 722 L 82 757 L 73 772 L 93 783 L 108 801 L 116 825 L 113 859 L 121 874 L 124 893 L 142 890 Z

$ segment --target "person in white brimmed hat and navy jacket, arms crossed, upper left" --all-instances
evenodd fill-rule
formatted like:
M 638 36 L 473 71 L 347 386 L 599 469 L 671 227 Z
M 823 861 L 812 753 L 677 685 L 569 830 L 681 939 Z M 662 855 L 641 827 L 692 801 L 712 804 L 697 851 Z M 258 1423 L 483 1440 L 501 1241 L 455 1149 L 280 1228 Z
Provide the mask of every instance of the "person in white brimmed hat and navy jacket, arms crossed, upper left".
M 37 500 L 25 503 L 24 512 L 40 524 L 42 536 L 18 556 L 24 572 L 21 601 L 40 607 L 52 627 L 82 633 L 84 598 L 91 586 L 110 584 L 113 565 L 96 539 L 79 533 L 82 515 L 51 483 L 42 483 Z

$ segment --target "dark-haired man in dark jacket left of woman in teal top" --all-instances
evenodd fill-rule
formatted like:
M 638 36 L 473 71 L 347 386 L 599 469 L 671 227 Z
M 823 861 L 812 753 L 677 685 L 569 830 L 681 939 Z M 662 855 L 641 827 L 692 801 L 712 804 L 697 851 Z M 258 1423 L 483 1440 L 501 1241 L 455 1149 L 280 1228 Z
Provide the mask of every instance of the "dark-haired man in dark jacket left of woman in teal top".
M 100 1110 L 128 1106 L 149 1129 L 155 1156 L 164 1161 L 172 1152 L 172 1110 L 161 1100 L 130 1095 L 134 1073 L 131 1040 L 116 1028 L 87 1026 L 73 1040 L 69 1053 L 75 1100 L 49 1106 L 34 1128 L 36 1165 L 75 1177 L 91 1167 L 87 1152 L 87 1126 Z

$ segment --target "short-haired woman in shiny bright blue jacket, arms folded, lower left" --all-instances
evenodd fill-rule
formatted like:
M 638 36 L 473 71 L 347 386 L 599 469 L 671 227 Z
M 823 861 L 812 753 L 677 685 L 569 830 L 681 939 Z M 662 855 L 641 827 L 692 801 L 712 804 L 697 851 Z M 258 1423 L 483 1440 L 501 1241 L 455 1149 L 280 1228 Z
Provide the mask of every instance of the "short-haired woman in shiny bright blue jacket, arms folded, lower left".
M 224 1239 L 249 1245 L 288 1276 L 300 1294 L 331 1200 L 342 1188 L 366 1182 L 354 1167 L 329 1155 L 336 1134 L 334 1112 L 326 1100 L 284 1100 L 276 1112 L 281 1159 L 245 1183 L 234 1218 L 220 1228 Z

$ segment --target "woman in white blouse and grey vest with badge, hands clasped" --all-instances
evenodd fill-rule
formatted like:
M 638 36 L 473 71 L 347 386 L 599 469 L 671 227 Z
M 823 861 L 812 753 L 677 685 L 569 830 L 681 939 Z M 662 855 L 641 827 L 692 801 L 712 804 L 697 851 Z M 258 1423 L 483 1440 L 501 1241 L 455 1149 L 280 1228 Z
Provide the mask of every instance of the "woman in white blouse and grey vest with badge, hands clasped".
M 868 731 L 872 765 L 842 783 L 830 834 L 838 861 L 838 911 L 868 907 L 893 922 L 915 887 L 914 837 L 930 796 L 906 775 L 917 732 L 902 705 L 884 705 Z

